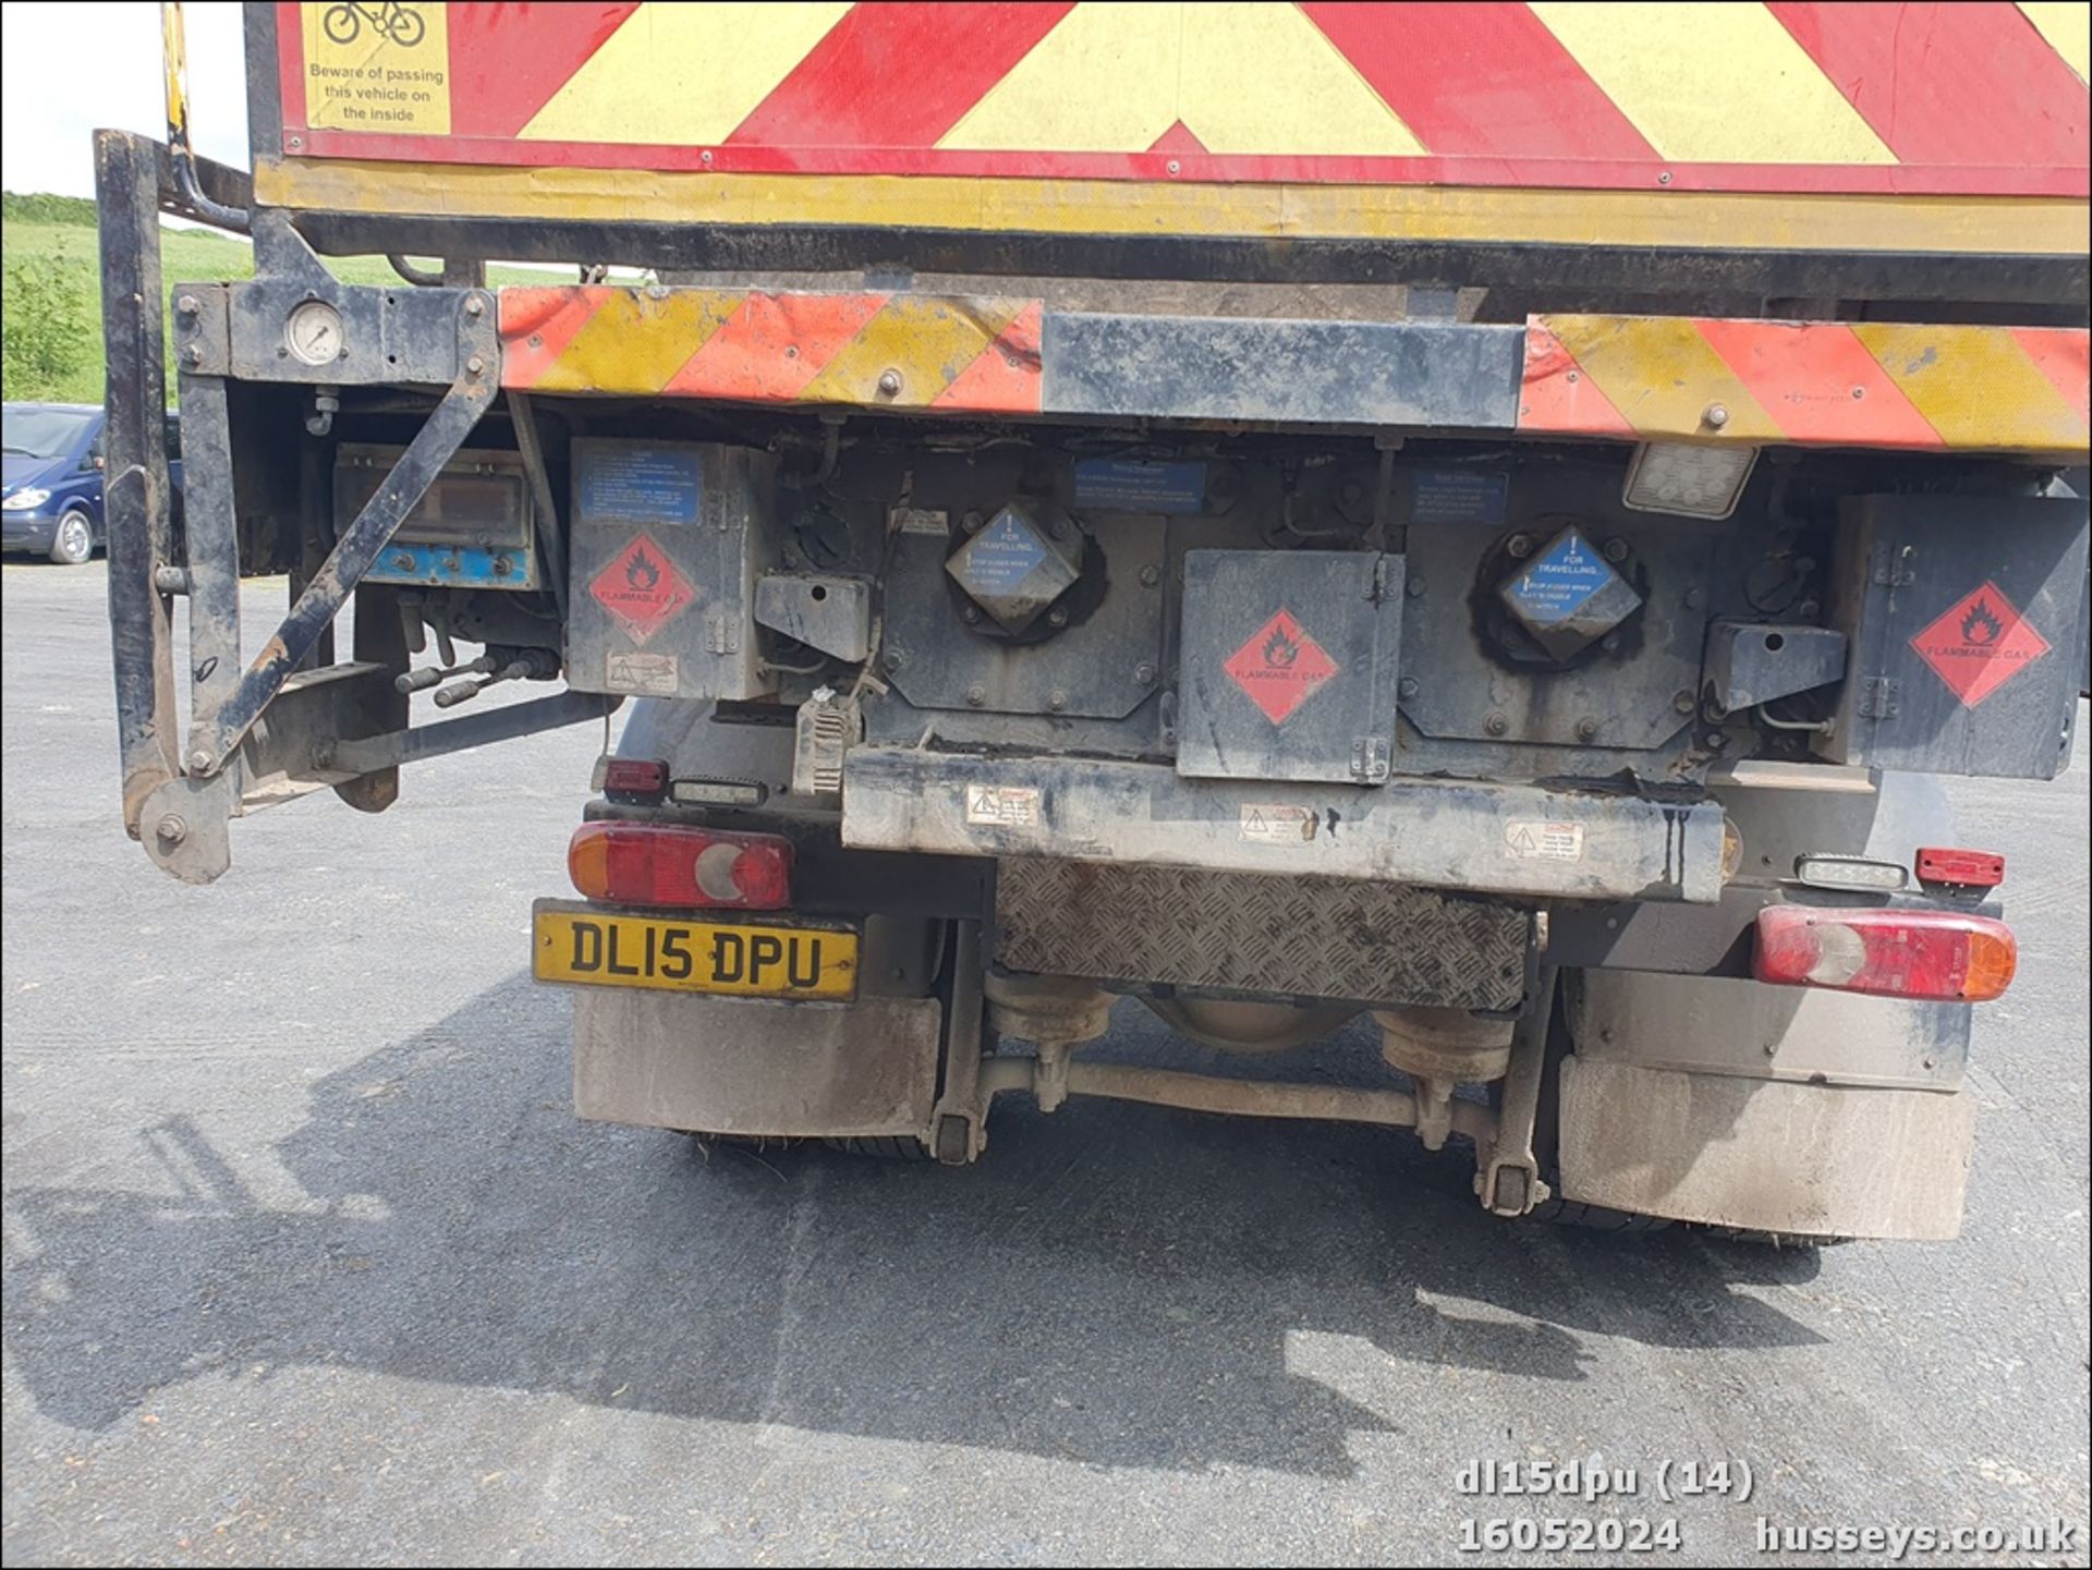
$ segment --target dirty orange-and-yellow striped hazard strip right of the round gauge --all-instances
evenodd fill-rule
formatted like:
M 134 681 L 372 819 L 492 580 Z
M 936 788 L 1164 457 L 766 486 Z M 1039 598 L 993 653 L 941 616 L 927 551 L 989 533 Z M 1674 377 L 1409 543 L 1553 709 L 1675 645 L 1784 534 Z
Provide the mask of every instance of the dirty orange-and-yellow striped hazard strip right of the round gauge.
M 1040 412 L 1040 301 L 615 284 L 500 291 L 502 387 Z

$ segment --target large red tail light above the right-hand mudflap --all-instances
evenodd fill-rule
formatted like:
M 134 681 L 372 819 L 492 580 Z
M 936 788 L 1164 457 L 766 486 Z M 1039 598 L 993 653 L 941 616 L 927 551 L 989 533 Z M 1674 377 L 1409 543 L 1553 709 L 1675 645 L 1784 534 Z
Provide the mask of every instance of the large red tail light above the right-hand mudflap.
M 1814 909 L 1757 914 L 1751 972 L 1776 987 L 1828 987 L 1952 1003 L 2002 997 L 2019 968 L 2013 928 L 1941 909 Z

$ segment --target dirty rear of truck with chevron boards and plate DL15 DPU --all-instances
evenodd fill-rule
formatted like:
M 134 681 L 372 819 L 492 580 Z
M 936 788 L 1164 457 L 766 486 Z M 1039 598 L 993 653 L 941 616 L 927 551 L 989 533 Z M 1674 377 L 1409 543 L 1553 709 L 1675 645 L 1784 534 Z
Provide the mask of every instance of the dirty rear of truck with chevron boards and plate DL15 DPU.
M 172 15 L 96 142 L 155 863 L 621 709 L 533 911 L 586 1118 L 1956 1231 L 2017 939 L 1935 776 L 2052 778 L 2086 661 L 2079 6 L 249 4 L 251 178 Z M 167 326 L 161 211 L 255 251 Z

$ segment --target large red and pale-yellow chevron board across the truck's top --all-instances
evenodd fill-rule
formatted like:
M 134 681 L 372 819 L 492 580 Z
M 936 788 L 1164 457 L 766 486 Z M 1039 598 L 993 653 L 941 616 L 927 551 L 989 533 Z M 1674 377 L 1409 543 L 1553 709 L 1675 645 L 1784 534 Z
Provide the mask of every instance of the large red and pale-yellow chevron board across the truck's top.
M 278 54 L 285 159 L 257 171 L 264 190 L 295 192 L 326 159 L 487 165 L 425 192 L 368 174 L 404 211 L 594 192 L 630 217 L 718 217 L 749 201 L 732 192 L 747 178 L 789 211 L 854 201 L 847 222 L 985 228 L 1008 207 L 979 186 L 1008 180 L 1077 182 L 1151 228 L 1291 234 L 1366 224 L 1372 205 L 1201 220 L 1169 188 L 2082 203 L 2092 140 L 2079 0 L 308 2 L 278 6 Z M 686 180 L 615 180 L 632 171 Z M 835 178 L 904 190 L 822 197 Z

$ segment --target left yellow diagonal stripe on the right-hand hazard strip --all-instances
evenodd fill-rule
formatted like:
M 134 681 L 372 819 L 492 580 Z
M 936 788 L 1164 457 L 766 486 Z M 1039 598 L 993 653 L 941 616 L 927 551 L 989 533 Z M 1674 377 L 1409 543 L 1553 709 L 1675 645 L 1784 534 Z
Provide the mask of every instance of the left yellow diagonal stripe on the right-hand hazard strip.
M 1548 316 L 1548 330 L 1646 437 L 1780 441 L 1784 433 L 1688 318 Z M 1728 418 L 1707 424 L 1720 403 Z

